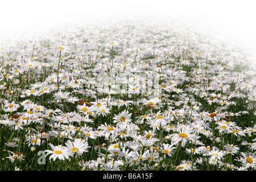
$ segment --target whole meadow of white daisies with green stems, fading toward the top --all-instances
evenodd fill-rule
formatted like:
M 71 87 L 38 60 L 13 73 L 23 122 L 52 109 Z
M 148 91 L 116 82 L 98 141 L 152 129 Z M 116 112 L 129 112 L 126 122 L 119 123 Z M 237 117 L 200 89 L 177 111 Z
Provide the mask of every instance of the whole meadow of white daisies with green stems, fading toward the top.
M 169 20 L 0 44 L 0 169 L 254 170 L 253 57 Z

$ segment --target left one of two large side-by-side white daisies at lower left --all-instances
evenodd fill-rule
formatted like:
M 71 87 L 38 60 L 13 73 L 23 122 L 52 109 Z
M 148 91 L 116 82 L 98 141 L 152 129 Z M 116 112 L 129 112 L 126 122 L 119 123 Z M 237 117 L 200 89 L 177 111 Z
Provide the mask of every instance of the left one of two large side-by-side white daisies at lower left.
M 62 145 L 58 145 L 58 146 L 54 146 L 53 144 L 49 143 L 51 150 L 45 150 L 44 152 L 46 152 L 47 155 L 51 154 L 49 159 L 53 159 L 54 161 L 58 158 L 60 160 L 65 160 L 69 159 L 70 156 L 73 156 L 73 153 L 70 151 L 70 148 L 62 146 Z

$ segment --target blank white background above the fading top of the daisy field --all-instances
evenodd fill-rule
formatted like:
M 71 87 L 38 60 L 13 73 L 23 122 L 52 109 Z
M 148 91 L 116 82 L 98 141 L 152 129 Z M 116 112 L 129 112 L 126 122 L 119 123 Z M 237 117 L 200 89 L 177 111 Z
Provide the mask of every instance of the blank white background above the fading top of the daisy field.
M 256 10 L 250 0 L 2 0 L 0 34 L 10 36 L 67 22 L 141 15 L 185 19 L 256 47 Z

